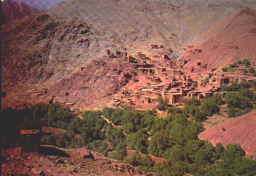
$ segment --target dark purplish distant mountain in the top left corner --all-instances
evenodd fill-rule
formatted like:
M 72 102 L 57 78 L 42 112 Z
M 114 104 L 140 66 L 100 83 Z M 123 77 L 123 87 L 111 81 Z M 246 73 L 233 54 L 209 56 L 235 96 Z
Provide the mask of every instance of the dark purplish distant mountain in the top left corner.
M 4 0 L 1 2 L 1 24 L 26 17 L 37 10 L 21 1 Z

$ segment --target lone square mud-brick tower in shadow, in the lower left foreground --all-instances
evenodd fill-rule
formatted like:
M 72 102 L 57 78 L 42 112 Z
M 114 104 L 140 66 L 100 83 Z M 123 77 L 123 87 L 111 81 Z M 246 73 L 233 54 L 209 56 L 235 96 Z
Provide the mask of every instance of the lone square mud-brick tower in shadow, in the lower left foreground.
M 21 153 L 30 153 L 38 151 L 40 143 L 39 130 L 21 130 Z

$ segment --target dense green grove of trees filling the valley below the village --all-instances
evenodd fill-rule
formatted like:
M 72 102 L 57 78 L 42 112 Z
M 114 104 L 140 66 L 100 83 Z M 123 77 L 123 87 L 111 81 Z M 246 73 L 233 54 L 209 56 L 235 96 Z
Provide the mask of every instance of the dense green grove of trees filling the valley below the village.
M 228 91 L 225 96 L 228 111 L 239 109 L 245 113 L 252 108 L 255 103 L 255 93 L 249 89 L 252 86 L 233 83 L 222 88 Z M 240 98 L 238 102 L 237 98 Z M 82 119 L 59 104 L 26 105 L 20 110 L 8 108 L 2 111 L 3 144 L 5 148 L 18 146 L 20 130 L 49 126 L 69 132 L 43 136 L 42 144 L 86 147 L 156 175 L 256 175 L 256 161 L 245 158 L 239 144 L 229 144 L 225 149 L 221 143 L 213 147 L 197 138 L 205 117 L 219 111 L 222 96 L 208 97 L 202 103 L 187 99 L 183 110 L 167 106 L 161 97 L 159 101 L 163 104 L 159 107 L 168 110 L 167 117 L 157 117 L 155 109 L 139 111 L 128 106 L 85 111 Z M 122 127 L 113 128 L 102 116 Z M 127 147 L 136 152 L 127 156 Z M 164 162 L 154 163 L 149 155 L 162 157 Z

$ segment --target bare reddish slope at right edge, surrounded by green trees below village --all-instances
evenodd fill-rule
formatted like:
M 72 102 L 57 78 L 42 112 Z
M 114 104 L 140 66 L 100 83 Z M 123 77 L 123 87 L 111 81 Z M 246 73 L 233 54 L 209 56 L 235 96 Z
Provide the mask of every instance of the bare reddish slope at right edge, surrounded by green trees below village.
M 256 110 L 237 118 L 232 118 L 212 127 L 207 126 L 198 138 L 208 140 L 215 145 L 221 142 L 223 146 L 229 143 L 239 143 L 246 156 L 256 156 Z M 224 128 L 225 130 L 222 130 Z

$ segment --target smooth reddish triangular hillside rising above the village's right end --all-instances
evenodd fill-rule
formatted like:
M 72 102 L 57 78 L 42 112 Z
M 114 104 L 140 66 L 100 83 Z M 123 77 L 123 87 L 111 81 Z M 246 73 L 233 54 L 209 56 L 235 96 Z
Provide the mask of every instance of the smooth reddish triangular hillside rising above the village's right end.
M 256 60 L 256 12 L 243 8 L 217 23 L 200 37 L 184 47 L 183 55 L 188 66 L 197 61 L 208 67 L 220 67 L 238 59 Z M 201 49 L 194 53 L 194 49 Z

